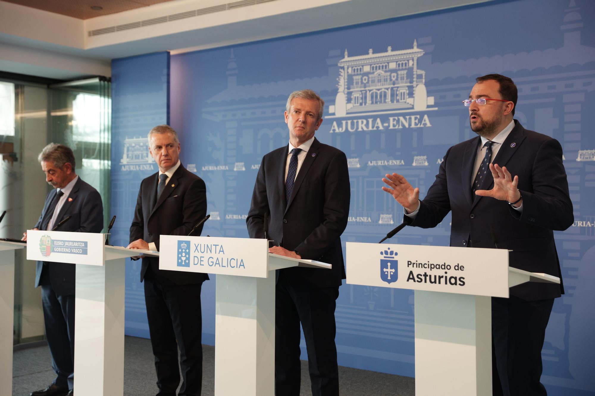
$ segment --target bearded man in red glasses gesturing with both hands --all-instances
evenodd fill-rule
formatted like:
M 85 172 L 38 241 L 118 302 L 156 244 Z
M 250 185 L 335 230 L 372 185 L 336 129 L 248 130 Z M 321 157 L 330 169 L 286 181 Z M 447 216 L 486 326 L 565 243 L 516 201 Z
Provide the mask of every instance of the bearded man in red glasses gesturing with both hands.
M 546 395 L 541 348 L 563 293 L 553 230 L 566 230 L 574 215 L 562 147 L 513 120 L 516 98 L 510 78 L 478 77 L 464 104 L 479 136 L 450 147 L 421 202 L 419 189 L 396 173 L 383 178 L 383 190 L 416 227 L 436 227 L 452 210 L 450 246 L 494 248 L 493 228 L 497 247 L 512 250 L 511 267 L 560 278 L 560 285 L 528 282 L 512 287 L 510 298 L 492 298 L 493 394 Z

